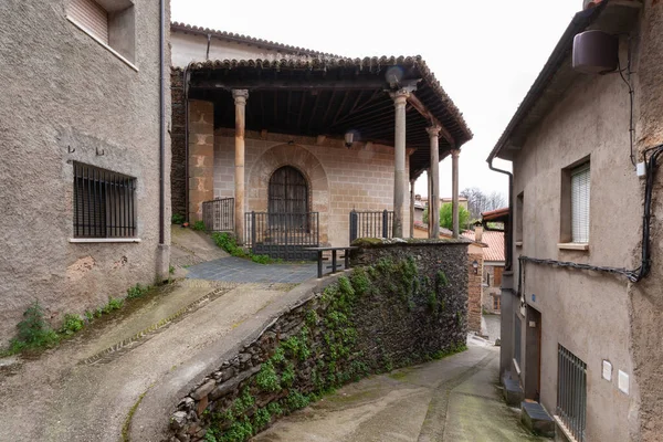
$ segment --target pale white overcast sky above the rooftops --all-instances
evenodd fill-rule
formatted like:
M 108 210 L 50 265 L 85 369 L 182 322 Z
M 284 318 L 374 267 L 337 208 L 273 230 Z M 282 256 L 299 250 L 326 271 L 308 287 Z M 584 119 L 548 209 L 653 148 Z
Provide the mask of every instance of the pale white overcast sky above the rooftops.
M 350 57 L 423 56 L 474 133 L 461 148 L 460 189 L 506 197 L 507 177 L 486 158 L 581 8 L 582 0 L 171 0 L 171 19 Z M 440 164 L 440 196 L 451 186 L 450 156 Z M 415 191 L 427 194 L 425 173 Z

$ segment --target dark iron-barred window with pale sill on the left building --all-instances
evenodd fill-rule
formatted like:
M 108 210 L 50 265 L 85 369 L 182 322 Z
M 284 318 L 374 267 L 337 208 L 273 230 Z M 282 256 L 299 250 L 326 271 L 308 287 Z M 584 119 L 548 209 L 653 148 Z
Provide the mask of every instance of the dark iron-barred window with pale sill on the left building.
M 136 178 L 74 162 L 74 238 L 135 238 Z

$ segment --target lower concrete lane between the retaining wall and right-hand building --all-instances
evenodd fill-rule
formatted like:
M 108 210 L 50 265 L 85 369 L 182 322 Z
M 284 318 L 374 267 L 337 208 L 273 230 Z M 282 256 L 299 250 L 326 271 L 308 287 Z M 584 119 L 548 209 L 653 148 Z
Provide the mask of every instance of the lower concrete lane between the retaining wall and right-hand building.
M 498 360 L 498 348 L 473 339 L 460 355 L 346 386 L 253 441 L 544 441 L 502 401 Z

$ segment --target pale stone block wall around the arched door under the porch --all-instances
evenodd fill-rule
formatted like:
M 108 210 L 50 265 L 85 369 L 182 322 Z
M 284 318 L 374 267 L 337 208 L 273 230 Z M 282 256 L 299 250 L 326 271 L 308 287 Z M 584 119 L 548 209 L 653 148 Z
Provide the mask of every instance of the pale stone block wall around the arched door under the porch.
M 305 177 L 309 208 L 319 212 L 323 244 L 340 246 L 349 243 L 348 220 L 352 209 L 382 211 L 393 208 L 394 166 L 390 146 L 355 143 L 348 149 L 339 139 L 317 140 L 252 130 L 246 131 L 245 143 L 246 211 L 266 211 L 270 178 L 282 166 L 293 166 Z M 234 130 L 217 129 L 214 198 L 234 197 L 233 177 Z M 403 221 L 403 232 L 409 232 L 409 204 L 406 204 Z

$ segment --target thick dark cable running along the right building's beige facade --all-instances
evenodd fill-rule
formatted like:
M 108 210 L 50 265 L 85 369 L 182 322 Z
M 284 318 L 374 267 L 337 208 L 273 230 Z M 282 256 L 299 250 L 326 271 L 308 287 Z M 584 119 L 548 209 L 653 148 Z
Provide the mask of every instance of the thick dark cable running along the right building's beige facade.
M 646 158 L 646 154 L 653 152 L 650 155 L 649 159 Z M 644 186 L 644 209 L 642 214 L 642 254 L 641 254 L 641 264 L 638 269 L 627 270 L 623 267 L 609 267 L 601 265 L 591 265 L 591 264 L 581 264 L 569 261 L 556 261 L 548 259 L 538 259 L 538 257 L 529 257 L 525 255 L 518 256 L 518 295 L 520 295 L 523 288 L 523 280 L 525 272 L 525 263 L 529 262 L 533 264 L 540 265 L 551 265 L 556 267 L 566 267 L 573 270 L 585 270 L 591 272 L 602 272 L 614 275 L 625 276 L 630 282 L 636 283 L 642 278 L 646 277 L 651 270 L 651 210 L 652 210 L 652 193 L 654 189 L 654 177 L 656 171 L 656 161 L 659 157 L 663 155 L 663 144 L 651 147 L 644 151 L 645 156 L 645 167 L 646 167 L 646 182 Z

